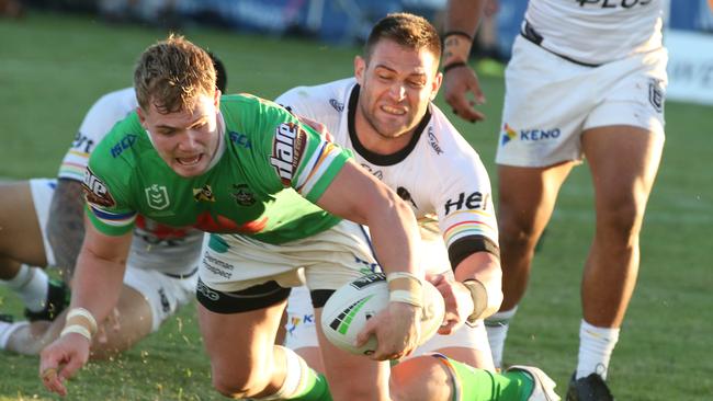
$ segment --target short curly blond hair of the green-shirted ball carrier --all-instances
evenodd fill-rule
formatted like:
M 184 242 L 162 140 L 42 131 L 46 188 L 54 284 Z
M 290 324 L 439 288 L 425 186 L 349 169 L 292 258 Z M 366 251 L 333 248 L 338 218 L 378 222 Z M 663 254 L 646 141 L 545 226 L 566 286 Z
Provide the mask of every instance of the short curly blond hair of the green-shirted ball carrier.
M 199 95 L 215 93 L 215 82 L 211 56 L 174 34 L 144 50 L 134 70 L 138 104 L 162 114 L 192 110 Z

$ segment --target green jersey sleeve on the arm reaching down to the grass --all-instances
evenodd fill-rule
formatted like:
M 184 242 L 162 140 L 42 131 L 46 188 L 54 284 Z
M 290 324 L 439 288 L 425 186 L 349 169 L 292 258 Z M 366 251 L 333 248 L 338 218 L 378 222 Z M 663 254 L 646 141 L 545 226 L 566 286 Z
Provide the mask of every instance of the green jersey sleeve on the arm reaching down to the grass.
M 136 116 L 133 116 L 136 119 Z M 133 165 L 112 156 L 114 138 L 124 138 L 122 128 L 131 117 L 118 123 L 89 158 L 84 169 L 82 188 L 87 200 L 87 215 L 94 228 L 106 236 L 122 236 L 132 231 L 136 210 L 129 199 L 129 180 Z

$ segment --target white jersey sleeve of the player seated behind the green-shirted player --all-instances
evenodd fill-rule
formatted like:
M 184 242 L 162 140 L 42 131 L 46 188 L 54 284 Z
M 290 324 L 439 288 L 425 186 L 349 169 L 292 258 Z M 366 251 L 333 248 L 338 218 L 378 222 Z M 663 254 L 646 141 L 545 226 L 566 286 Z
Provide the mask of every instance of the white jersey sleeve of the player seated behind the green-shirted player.
M 133 98 L 134 90 L 127 88 L 103 95 L 89 108 L 59 165 L 58 177 L 83 181 L 89 154 L 114 124 L 135 108 L 133 102 L 126 101 Z

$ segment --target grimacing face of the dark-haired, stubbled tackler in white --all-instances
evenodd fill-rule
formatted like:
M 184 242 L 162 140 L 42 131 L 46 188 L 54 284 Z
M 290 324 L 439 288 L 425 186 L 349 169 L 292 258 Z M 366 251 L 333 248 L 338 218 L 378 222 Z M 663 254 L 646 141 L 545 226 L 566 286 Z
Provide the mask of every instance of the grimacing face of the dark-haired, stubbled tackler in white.
M 389 39 L 374 46 L 369 64 L 358 56 L 354 75 L 361 85 L 356 118 L 361 114 L 383 139 L 412 134 L 442 79 L 432 53 Z

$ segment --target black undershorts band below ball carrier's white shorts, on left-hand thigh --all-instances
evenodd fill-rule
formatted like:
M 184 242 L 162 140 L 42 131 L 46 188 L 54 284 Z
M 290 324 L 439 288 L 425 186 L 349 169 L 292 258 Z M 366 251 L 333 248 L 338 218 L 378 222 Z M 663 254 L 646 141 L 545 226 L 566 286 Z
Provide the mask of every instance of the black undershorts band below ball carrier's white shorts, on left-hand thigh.
M 280 303 L 290 296 L 290 288 L 281 287 L 271 280 L 239 291 L 223 293 L 213 289 L 201 280 L 196 286 L 195 298 L 205 309 L 222 314 L 241 313 L 263 309 Z

